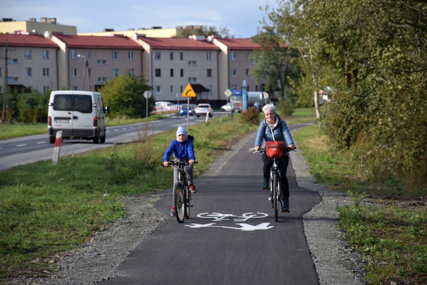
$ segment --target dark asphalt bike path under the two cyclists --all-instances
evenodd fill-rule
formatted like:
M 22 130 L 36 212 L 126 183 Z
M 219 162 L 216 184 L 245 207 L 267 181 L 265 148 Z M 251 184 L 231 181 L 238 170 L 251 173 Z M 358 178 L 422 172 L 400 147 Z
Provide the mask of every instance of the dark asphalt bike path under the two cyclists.
M 276 223 L 269 191 L 261 190 L 261 154 L 249 151 L 255 136 L 231 146 L 195 180 L 189 219 L 178 224 L 170 217 L 160 224 L 104 283 L 318 284 L 303 215 L 321 197 L 297 186 L 290 161 L 291 212 L 279 213 Z M 171 182 L 172 175 L 170 170 Z M 165 215 L 172 204 L 167 193 L 156 204 Z

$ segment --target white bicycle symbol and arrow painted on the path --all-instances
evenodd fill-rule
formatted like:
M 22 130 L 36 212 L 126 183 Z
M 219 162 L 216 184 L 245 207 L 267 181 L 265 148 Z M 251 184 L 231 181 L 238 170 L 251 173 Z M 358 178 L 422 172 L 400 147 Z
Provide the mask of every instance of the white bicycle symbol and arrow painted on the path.
M 239 222 L 243 222 L 243 221 L 247 221 L 251 218 L 264 218 L 267 217 L 268 214 L 265 213 L 246 213 L 243 214 L 242 216 L 235 216 L 233 214 L 221 214 L 221 213 L 201 213 L 198 214 L 197 217 L 199 218 L 205 218 L 205 219 L 212 219 L 212 221 L 228 221 L 228 220 L 234 220 L 234 221 L 239 221 Z M 209 223 L 209 224 L 189 224 L 189 225 L 184 225 L 186 227 L 190 227 L 190 228 L 228 228 L 228 229 L 236 229 L 236 230 L 242 230 L 242 231 L 254 231 L 254 230 L 267 230 L 267 229 L 271 229 L 274 226 L 269 226 L 270 223 L 261 223 L 259 225 L 250 225 L 250 224 L 244 224 L 244 223 L 239 223 L 236 224 L 239 227 L 226 227 L 226 226 L 215 226 L 216 223 Z

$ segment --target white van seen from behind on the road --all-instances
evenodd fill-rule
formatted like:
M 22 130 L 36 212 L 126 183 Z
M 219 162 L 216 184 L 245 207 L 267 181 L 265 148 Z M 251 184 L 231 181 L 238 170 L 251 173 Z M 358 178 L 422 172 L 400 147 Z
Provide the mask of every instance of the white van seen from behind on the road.
M 93 139 L 95 144 L 105 143 L 105 113 L 108 112 L 101 93 L 52 91 L 48 111 L 49 142 L 54 144 L 56 133 L 62 130 L 63 139 Z

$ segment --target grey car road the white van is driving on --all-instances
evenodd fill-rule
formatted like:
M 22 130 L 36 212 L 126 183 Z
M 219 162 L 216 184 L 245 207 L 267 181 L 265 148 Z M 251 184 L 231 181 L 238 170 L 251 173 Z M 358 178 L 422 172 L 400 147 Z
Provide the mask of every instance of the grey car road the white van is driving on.
M 216 112 L 215 116 L 225 115 L 226 112 Z M 188 124 L 204 121 L 204 117 L 190 117 Z M 66 140 L 61 143 L 60 157 L 74 155 L 111 147 L 114 144 L 125 144 L 138 139 L 140 134 L 155 134 L 178 125 L 187 126 L 186 116 L 172 115 L 155 121 L 136 123 L 123 126 L 107 126 L 105 144 L 94 144 L 92 140 Z M 13 139 L 0 140 L 0 171 L 9 168 L 34 163 L 40 160 L 51 160 L 53 144 L 49 144 L 47 134 L 31 135 Z

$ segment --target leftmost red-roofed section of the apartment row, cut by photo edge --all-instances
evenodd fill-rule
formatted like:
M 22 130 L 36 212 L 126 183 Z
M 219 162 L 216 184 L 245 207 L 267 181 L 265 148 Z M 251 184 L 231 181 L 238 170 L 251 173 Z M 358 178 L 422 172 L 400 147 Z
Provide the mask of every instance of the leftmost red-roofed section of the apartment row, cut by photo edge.
M 58 89 L 57 51 L 38 34 L 0 34 L 0 92 L 6 85 L 18 92 Z

